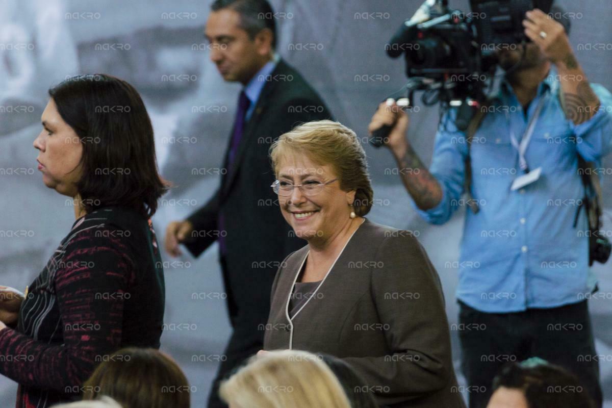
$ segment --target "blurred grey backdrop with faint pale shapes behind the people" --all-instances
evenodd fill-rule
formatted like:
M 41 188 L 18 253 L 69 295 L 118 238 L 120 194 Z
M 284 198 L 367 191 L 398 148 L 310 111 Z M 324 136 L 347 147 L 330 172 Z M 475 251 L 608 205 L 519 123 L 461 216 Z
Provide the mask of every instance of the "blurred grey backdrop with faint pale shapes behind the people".
M 32 148 L 46 89 L 66 75 L 111 73 L 143 95 L 155 127 L 160 169 L 176 184 L 154 217 L 160 238 L 168 221 L 184 217 L 211 195 L 239 86 L 223 83 L 208 61 L 202 30 L 210 2 L 0 0 L 0 104 L 6 107 L 0 111 L 0 284 L 20 289 L 29 284 L 73 222 L 72 203 L 42 184 Z M 272 0 L 279 13 L 278 53 L 323 95 L 340 122 L 365 138 L 376 103 L 405 79 L 403 62 L 387 58 L 384 43 L 420 2 Z M 450 3 L 468 10 L 466 0 Z M 575 48 L 603 44 L 604 50 L 577 54 L 589 79 L 612 89 L 610 1 L 560 3 L 573 13 Z M 421 106 L 412 114 L 409 138 L 427 163 L 437 121 L 436 107 Z M 456 322 L 457 271 L 449 262 L 458 259 L 463 211 L 444 226 L 425 224 L 411 209 L 398 176 L 385 175 L 393 165 L 389 152 L 365 149 L 379 199 L 369 218 L 420 235 L 444 283 L 450 322 Z M 612 158 L 603 166 L 611 169 Z M 612 234 L 612 177 L 604 176 L 603 182 L 606 232 Z M 168 330 L 162 348 L 185 369 L 195 389 L 194 407 L 206 401 L 230 332 L 216 259 L 216 246 L 197 260 L 164 257 Z M 602 293 L 612 295 L 610 263 L 597 272 Z M 591 302 L 597 350 L 605 360 L 612 359 L 611 305 L 610 299 Z M 452 334 L 457 366 L 457 336 Z M 606 398 L 612 400 L 612 362 L 602 362 L 601 373 Z M 14 382 L 0 377 L 2 407 L 13 406 L 15 390 Z M 612 407 L 612 401 L 606 406 Z

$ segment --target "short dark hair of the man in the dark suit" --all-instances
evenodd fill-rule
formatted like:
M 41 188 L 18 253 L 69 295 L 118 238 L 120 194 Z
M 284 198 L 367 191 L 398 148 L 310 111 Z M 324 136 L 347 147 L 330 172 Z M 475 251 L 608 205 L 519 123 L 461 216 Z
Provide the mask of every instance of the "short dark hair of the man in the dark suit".
M 276 20 L 267 0 L 215 0 L 211 10 L 232 9 L 240 15 L 240 26 L 254 39 L 263 29 L 272 31 L 272 48 L 276 48 Z

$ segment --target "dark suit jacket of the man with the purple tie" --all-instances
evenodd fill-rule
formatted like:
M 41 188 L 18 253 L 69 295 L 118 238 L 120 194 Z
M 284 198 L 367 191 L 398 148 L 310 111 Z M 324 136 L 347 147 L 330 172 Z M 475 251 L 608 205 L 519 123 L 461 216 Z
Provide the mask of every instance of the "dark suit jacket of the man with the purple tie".
M 197 238 L 186 246 L 194 256 L 219 234 L 226 234 L 223 279 L 231 324 L 245 347 L 261 347 L 263 332 L 257 326 L 266 322 L 278 265 L 304 245 L 304 240 L 293 236 L 270 187 L 275 177 L 268 150 L 272 141 L 295 125 L 321 119 L 330 119 L 323 100 L 299 72 L 279 61 L 245 124 L 233 167 L 227 169 L 210 201 L 188 217 Z M 220 213 L 225 231 L 218 231 Z

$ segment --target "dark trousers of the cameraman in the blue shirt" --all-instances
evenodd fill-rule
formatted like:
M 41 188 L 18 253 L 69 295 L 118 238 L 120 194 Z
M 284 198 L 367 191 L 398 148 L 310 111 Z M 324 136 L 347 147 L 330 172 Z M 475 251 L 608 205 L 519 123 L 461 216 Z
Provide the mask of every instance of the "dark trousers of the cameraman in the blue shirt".
M 599 362 L 586 300 L 550 309 L 483 313 L 459 302 L 461 369 L 469 408 L 484 408 L 493 378 L 507 362 L 540 357 L 573 373 L 602 406 Z M 584 358 L 584 356 L 587 356 Z M 586 360 L 586 361 L 584 361 Z

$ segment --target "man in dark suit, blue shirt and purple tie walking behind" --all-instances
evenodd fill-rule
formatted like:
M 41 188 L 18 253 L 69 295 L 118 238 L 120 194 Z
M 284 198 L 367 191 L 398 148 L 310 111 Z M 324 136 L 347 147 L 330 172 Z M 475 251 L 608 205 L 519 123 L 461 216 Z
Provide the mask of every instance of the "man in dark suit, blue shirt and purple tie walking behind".
M 299 72 L 275 54 L 274 12 L 266 0 L 217 0 L 211 10 L 205 33 L 211 60 L 225 81 L 244 87 L 221 185 L 187 220 L 168 225 L 165 247 L 177 256 L 182 243 L 199 256 L 215 240 L 219 243 L 233 327 L 209 399 L 209 407 L 220 407 L 219 381 L 263 347 L 278 266 L 305 245 L 278 209 L 269 147 L 295 125 L 330 119 L 330 113 Z

